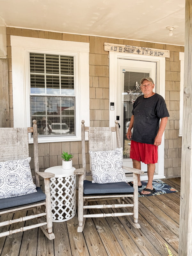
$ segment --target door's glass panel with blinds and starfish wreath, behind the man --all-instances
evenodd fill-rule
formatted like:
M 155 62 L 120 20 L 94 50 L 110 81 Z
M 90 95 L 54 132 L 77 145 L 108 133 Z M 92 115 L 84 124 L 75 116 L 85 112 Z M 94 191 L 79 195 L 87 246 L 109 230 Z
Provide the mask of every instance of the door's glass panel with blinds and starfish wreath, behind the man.
M 140 80 L 148 77 L 149 73 L 124 71 L 124 89 L 123 89 L 123 158 L 130 158 L 131 140 L 127 139 L 133 103 L 143 93 L 140 90 Z

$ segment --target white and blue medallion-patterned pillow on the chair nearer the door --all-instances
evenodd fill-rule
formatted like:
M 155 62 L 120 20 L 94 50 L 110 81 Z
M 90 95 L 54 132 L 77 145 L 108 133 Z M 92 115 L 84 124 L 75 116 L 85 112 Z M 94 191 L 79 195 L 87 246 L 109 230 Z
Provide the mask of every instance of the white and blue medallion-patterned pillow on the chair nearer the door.
M 122 168 L 123 148 L 108 151 L 89 151 L 92 183 L 127 181 Z

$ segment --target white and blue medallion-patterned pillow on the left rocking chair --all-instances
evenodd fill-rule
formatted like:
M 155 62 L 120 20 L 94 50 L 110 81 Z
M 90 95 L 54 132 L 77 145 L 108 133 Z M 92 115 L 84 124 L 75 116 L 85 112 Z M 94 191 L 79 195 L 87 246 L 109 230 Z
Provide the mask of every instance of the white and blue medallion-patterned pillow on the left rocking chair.
M 31 157 L 0 162 L 0 198 L 36 192 L 30 161 Z

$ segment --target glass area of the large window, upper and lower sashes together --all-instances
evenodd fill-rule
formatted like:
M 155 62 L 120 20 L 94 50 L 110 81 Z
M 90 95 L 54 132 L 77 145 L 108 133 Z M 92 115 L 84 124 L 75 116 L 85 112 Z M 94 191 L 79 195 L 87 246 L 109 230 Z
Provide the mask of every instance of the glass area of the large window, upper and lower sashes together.
M 40 137 L 76 134 L 73 56 L 30 53 L 30 111 Z

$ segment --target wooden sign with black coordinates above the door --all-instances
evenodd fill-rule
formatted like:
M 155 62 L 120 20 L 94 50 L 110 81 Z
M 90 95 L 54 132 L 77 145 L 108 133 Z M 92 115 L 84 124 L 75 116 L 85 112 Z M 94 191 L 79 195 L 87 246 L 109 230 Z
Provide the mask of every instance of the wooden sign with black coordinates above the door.
M 124 44 L 109 44 L 104 43 L 104 50 L 108 52 L 124 52 L 133 53 L 137 55 L 148 55 L 157 57 L 170 57 L 170 52 L 168 50 L 153 49 L 148 47 L 139 47 Z

